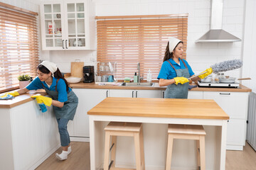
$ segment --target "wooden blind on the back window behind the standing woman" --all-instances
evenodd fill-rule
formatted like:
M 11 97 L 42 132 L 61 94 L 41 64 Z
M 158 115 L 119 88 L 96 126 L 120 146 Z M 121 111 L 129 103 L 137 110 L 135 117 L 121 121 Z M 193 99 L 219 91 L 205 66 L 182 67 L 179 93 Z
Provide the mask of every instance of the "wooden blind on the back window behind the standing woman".
M 96 17 L 101 18 L 101 17 Z M 156 79 L 169 37 L 183 41 L 186 59 L 188 15 L 169 18 L 102 17 L 97 21 L 97 62 L 117 62 L 117 79 L 133 77 L 140 63 L 141 77 L 150 69 Z M 97 68 L 99 69 L 99 68 Z

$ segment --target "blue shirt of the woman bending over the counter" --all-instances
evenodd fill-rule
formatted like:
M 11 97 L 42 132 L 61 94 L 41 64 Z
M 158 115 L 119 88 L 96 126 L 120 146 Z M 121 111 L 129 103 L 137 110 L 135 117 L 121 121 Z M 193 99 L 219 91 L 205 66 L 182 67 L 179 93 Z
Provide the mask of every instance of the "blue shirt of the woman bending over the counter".
M 43 89 L 43 86 L 45 86 L 46 89 L 48 89 L 50 91 L 55 91 L 56 81 L 57 81 L 57 79 L 55 77 L 53 77 L 53 83 L 50 85 L 50 88 L 49 88 L 45 81 L 42 82 L 38 77 L 36 77 L 36 79 L 34 79 L 31 82 L 31 84 L 28 84 L 28 86 L 26 86 L 26 89 L 37 90 L 37 89 Z M 60 101 L 60 102 L 68 101 L 68 93 L 66 91 L 66 84 L 63 79 L 60 79 L 58 81 L 57 91 L 58 91 L 58 101 Z M 71 91 L 71 89 L 68 88 L 68 92 L 70 92 L 70 91 Z

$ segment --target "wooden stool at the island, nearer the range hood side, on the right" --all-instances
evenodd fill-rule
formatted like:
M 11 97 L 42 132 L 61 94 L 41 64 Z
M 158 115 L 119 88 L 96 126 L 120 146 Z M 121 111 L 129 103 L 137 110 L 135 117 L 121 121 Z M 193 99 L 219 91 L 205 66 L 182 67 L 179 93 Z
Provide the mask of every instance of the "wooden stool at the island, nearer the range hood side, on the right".
M 171 152 L 174 139 L 197 140 L 196 153 L 198 169 L 206 170 L 205 136 L 206 131 L 202 125 L 168 125 L 166 170 L 171 169 Z

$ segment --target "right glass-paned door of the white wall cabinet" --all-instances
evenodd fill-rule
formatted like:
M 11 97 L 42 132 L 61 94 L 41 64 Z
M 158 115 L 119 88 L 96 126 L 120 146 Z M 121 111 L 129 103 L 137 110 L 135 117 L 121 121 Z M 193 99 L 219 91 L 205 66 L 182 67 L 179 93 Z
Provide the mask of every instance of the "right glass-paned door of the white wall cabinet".
M 85 47 L 85 4 L 66 4 L 68 47 Z

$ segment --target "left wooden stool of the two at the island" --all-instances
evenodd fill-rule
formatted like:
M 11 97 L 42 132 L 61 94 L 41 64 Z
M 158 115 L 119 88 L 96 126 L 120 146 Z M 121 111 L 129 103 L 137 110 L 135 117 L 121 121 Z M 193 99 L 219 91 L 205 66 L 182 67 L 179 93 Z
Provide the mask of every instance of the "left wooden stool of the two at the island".
M 110 136 L 111 136 L 111 141 L 110 141 Z M 105 128 L 104 170 L 124 169 L 124 168 L 115 167 L 117 136 L 134 137 L 136 169 L 144 170 L 145 161 L 144 161 L 142 123 L 122 123 L 122 122 L 110 122 Z M 111 142 L 111 145 L 110 145 L 110 142 Z M 111 152 L 111 156 L 110 156 L 110 152 Z M 109 164 L 109 159 L 110 159 L 110 164 Z

